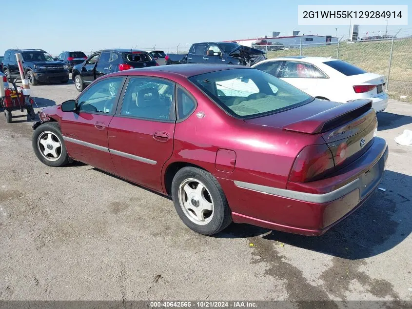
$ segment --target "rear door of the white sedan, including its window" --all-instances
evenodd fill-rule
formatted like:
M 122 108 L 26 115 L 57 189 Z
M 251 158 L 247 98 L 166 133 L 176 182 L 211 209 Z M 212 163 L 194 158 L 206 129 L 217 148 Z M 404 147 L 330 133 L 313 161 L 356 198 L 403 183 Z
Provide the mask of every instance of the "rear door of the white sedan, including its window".
M 317 80 L 310 63 L 286 61 L 279 77 L 310 95 L 315 91 Z

